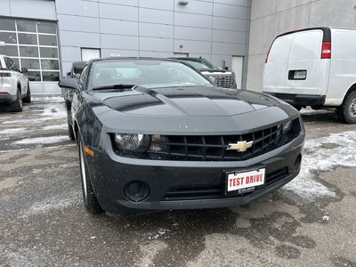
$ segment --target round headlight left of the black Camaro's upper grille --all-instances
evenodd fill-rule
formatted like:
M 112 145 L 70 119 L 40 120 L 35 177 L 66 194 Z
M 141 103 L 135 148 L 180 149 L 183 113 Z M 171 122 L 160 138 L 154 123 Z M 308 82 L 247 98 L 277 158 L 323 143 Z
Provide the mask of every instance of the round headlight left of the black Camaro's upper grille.
M 146 134 L 115 134 L 114 142 L 119 150 L 143 152 L 150 144 L 150 136 Z

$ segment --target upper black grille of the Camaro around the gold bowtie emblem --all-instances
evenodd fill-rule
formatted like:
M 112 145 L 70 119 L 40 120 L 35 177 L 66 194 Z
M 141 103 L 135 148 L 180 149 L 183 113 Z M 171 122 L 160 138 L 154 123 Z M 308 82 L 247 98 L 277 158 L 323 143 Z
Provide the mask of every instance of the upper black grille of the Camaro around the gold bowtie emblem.
M 189 161 L 240 161 L 275 150 L 286 141 L 282 125 L 239 135 L 152 135 L 150 159 Z M 231 143 L 253 142 L 247 151 L 226 150 Z

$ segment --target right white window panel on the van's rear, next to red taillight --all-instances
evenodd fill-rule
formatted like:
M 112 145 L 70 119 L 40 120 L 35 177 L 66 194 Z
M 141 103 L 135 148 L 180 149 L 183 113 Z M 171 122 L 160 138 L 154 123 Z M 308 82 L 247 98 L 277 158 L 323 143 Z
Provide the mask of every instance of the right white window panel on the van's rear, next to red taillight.
M 298 32 L 290 53 L 290 61 L 306 61 L 320 59 L 323 32 L 308 30 Z

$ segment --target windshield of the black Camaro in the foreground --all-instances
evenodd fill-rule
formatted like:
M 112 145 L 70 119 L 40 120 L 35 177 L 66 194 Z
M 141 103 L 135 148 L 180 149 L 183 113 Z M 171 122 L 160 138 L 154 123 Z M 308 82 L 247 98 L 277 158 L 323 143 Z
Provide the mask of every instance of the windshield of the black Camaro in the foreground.
M 114 88 L 114 85 L 142 85 L 153 88 L 211 84 L 198 72 L 176 61 L 138 59 L 94 61 L 88 89 L 105 86 Z

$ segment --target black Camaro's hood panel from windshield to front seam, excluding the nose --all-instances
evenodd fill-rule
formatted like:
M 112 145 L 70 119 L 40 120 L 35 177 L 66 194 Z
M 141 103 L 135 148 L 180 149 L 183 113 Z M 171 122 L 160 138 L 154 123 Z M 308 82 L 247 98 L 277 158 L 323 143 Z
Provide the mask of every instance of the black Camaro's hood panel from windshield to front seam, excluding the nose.
M 164 117 L 226 117 L 278 103 L 260 93 L 198 85 L 158 89 L 135 86 L 122 92 L 97 92 L 93 96 L 119 112 Z

